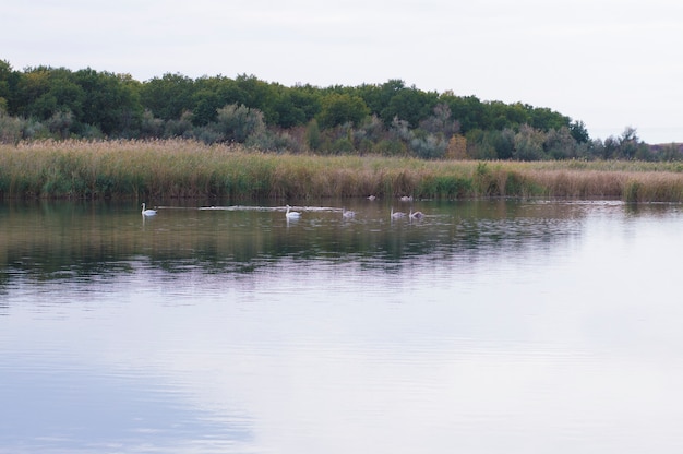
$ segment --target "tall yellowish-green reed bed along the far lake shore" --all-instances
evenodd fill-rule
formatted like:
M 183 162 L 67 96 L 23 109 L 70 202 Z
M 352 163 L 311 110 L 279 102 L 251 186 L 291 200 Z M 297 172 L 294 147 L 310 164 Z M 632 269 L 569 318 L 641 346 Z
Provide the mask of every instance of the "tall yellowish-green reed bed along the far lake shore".
M 683 165 L 262 154 L 187 141 L 0 145 L 2 198 L 618 198 L 683 201 Z

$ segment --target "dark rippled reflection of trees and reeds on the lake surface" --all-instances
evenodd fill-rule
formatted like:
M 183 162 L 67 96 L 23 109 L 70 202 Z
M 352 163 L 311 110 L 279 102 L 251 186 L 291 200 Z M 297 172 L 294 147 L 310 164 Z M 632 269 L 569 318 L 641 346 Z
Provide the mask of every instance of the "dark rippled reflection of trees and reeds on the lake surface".
M 301 210 L 301 208 L 299 208 Z M 427 208 L 424 208 L 427 210 Z M 391 219 L 386 206 L 303 207 L 288 220 L 278 207 L 169 208 L 145 218 L 129 207 L 49 204 L 4 207 L 0 259 L 40 279 L 101 278 L 149 260 L 166 271 L 188 265 L 249 272 L 283 259 L 361 261 L 367 265 L 427 255 L 476 258 L 542 247 L 575 235 L 582 207 L 554 204 L 434 204 L 422 219 Z

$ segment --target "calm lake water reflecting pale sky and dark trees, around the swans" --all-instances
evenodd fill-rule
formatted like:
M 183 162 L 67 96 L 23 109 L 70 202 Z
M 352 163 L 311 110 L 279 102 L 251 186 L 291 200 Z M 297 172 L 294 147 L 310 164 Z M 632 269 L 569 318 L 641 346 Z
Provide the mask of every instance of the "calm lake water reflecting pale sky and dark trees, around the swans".
M 0 452 L 682 452 L 680 205 L 0 205 Z

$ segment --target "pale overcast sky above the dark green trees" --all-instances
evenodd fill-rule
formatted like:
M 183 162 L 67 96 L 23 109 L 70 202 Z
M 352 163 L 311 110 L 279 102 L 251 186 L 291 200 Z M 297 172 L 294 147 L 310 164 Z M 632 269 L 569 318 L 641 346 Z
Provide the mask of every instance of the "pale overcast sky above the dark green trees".
M 592 139 L 683 142 L 678 0 L 32 0 L 7 2 L 13 69 L 254 75 L 407 86 L 547 107 Z

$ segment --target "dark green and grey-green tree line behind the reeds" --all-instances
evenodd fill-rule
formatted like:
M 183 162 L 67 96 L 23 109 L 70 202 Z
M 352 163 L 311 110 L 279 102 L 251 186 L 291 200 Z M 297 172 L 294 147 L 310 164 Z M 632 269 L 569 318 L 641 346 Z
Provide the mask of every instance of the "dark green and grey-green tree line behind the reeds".
M 426 92 L 404 81 L 284 86 L 253 75 L 191 79 L 0 60 L 0 141 L 169 139 L 239 142 L 262 151 L 421 158 L 674 159 L 633 128 L 592 140 L 582 121 L 528 104 Z

